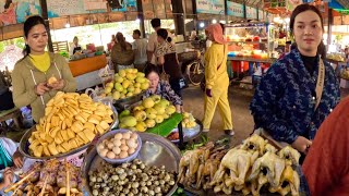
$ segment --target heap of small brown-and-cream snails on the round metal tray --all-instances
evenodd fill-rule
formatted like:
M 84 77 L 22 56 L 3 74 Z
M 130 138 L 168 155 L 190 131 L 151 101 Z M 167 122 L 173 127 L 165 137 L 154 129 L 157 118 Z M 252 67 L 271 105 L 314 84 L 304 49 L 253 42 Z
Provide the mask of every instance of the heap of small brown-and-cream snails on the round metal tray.
M 103 162 L 88 172 L 88 185 L 94 196 L 166 195 L 176 184 L 174 173 L 165 167 L 146 166 L 139 159 L 115 168 Z

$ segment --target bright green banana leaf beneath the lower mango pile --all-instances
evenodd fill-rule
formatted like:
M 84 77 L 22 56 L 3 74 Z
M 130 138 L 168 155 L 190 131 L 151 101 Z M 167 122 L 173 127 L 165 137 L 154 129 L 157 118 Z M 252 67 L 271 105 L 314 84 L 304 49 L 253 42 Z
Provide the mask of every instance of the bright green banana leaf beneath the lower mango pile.
M 182 114 L 176 112 L 160 124 L 156 124 L 154 127 L 147 128 L 145 132 L 167 137 L 171 131 L 178 126 L 182 119 Z

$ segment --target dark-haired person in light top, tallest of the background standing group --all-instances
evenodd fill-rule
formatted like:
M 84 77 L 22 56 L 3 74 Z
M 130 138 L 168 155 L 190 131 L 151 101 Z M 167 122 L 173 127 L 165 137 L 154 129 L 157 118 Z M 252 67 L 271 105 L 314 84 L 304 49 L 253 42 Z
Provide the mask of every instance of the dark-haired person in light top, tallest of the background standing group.
M 152 27 L 154 28 L 155 32 L 153 32 L 148 38 L 148 44 L 146 47 L 147 51 L 147 60 L 152 64 L 157 64 L 156 62 L 156 57 L 154 56 L 154 52 L 157 48 L 157 30 L 161 28 L 161 21 L 159 19 L 153 19 L 151 21 Z

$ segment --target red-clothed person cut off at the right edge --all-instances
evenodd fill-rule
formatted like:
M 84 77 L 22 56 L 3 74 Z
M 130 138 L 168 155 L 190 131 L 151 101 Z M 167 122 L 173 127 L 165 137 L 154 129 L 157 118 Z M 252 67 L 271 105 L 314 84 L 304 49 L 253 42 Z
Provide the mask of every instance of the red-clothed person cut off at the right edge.
M 349 98 L 320 126 L 302 166 L 312 196 L 349 195 Z

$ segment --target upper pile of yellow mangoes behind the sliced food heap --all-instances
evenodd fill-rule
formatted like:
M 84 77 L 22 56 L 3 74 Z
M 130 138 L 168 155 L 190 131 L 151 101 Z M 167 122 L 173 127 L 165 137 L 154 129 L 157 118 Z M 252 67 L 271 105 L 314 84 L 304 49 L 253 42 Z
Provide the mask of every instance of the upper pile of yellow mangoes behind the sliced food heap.
M 107 83 L 105 94 L 115 100 L 124 99 L 141 94 L 148 89 L 149 81 L 137 69 L 120 70 L 113 82 Z

